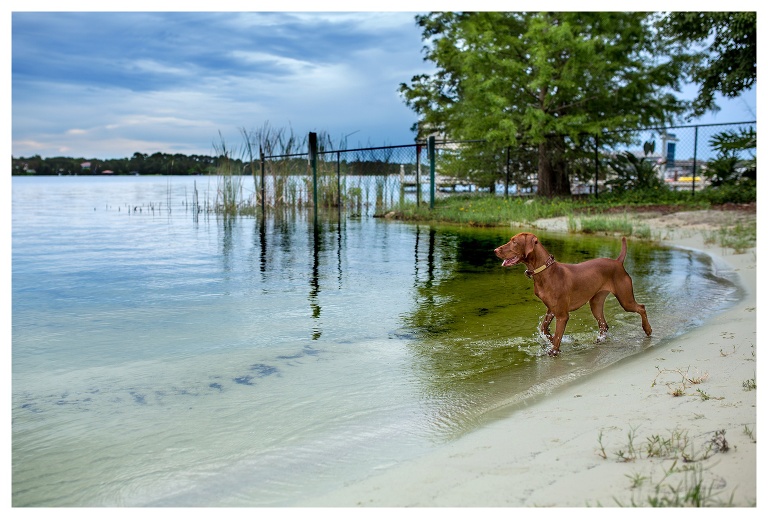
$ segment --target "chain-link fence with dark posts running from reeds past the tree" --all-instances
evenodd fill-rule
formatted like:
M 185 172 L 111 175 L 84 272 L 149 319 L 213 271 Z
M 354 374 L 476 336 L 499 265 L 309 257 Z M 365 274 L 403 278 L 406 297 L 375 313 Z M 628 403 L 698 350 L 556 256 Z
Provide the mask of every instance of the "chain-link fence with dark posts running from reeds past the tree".
M 586 137 L 570 155 L 570 192 L 598 194 L 611 183 L 611 160 L 631 154 L 653 165 L 673 189 L 695 190 L 717 157 L 715 137 L 753 128 L 755 121 L 649 128 Z M 316 140 L 314 141 L 316 143 Z M 537 193 L 537 148 L 494 148 L 485 141 L 428 142 L 401 146 L 262 156 L 254 168 L 257 204 L 337 209 L 347 215 L 382 215 L 404 202 L 434 204 L 454 193 L 486 191 L 500 196 Z M 569 150 L 573 152 L 573 149 Z M 738 157 L 748 160 L 743 154 Z M 754 159 L 754 156 L 751 158 Z

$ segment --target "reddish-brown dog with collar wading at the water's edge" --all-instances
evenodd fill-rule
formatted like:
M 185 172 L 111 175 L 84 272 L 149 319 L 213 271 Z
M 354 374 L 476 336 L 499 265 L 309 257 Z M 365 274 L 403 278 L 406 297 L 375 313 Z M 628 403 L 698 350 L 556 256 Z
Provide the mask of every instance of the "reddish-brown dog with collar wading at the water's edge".
M 533 278 L 534 293 L 547 305 L 547 315 L 541 323 L 541 331 L 552 343 L 550 355 L 560 353 L 560 341 L 563 339 L 569 313 L 581 308 L 587 301 L 600 329 L 598 338 L 605 337 L 608 323 L 605 322 L 603 306 L 609 293 L 616 296 L 625 311 L 640 314 L 643 331 L 646 335 L 651 335 L 645 306 L 635 301 L 632 278 L 624 270 L 624 258 L 627 256 L 626 238 L 622 238 L 621 254 L 615 260 L 597 258 L 577 264 L 558 263 L 539 239 L 528 232 L 516 234 L 494 252 L 504 260 L 502 267 L 511 267 L 518 263 L 525 263 L 528 267 L 525 274 Z M 549 333 L 549 323 L 552 319 L 557 320 L 554 337 Z

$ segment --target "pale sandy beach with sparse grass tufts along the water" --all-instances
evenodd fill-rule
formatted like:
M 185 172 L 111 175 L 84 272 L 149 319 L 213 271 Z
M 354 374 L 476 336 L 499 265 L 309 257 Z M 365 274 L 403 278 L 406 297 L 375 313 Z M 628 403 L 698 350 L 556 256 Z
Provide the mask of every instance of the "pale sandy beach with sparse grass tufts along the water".
M 720 273 L 738 276 L 744 298 L 673 341 L 300 505 L 757 506 L 757 252 L 706 239 L 723 221 L 755 214 L 638 218 L 663 243 L 711 255 Z

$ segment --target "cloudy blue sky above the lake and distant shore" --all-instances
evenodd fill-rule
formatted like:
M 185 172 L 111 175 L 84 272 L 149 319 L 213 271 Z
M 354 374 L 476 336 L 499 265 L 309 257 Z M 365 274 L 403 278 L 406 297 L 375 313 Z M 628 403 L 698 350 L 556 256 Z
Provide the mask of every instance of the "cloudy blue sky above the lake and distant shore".
M 398 86 L 432 70 L 415 14 L 13 12 L 12 155 L 210 155 L 265 123 L 413 142 Z M 720 104 L 701 122 L 756 119 L 754 90 Z

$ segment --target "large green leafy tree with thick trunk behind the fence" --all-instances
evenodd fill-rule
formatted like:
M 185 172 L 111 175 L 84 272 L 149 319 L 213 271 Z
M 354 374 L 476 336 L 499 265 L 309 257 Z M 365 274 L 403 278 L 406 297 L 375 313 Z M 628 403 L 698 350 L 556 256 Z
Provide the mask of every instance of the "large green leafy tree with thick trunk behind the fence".
M 595 136 L 668 124 L 690 109 L 675 95 L 690 56 L 667 52 L 649 13 L 430 13 L 416 21 L 437 69 L 400 86 L 419 137 L 533 149 L 545 196 L 570 194 L 569 165 Z

